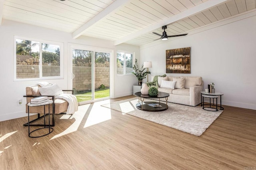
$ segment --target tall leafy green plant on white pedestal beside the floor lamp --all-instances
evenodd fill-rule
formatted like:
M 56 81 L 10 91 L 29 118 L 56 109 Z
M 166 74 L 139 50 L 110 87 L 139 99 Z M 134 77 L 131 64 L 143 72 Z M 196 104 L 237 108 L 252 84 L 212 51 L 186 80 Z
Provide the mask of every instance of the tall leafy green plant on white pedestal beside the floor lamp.
M 138 85 L 142 85 L 142 80 L 146 78 L 146 75 L 151 74 L 150 71 L 147 71 L 146 68 L 143 68 L 143 64 L 140 67 L 137 59 L 135 59 L 134 66 L 132 68 L 133 68 L 132 74 L 134 74 L 137 77 Z

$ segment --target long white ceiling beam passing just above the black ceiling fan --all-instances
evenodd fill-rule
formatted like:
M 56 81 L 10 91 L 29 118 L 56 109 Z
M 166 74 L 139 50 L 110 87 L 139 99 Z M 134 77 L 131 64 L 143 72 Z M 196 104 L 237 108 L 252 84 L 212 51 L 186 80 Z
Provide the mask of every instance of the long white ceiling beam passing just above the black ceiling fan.
M 225 2 L 227 2 L 228 0 L 208 0 L 206 2 L 203 2 L 201 4 L 198 4 L 197 6 L 194 6 L 184 12 L 180 12 L 170 18 L 167 18 L 166 20 L 162 20 L 160 22 L 157 22 L 156 24 L 152 24 L 151 26 L 148 26 L 142 30 L 139 30 L 137 32 L 134 32 L 132 34 L 129 34 L 128 36 L 124 36 L 123 38 L 120 38 L 116 41 L 114 41 L 114 45 L 118 45 L 118 44 L 121 44 L 121 43 L 125 43 L 129 40 L 132 40 L 138 36 L 141 36 L 143 34 L 146 34 L 148 32 L 152 32 L 158 28 L 161 28 L 162 26 L 165 26 L 165 25 L 170 25 L 174 22 L 177 22 L 179 20 L 183 20 L 185 18 L 188 18 L 190 16 L 193 16 L 195 14 L 198 14 L 204 10 L 207 10 L 209 8 L 212 8 L 214 6 L 217 6 L 217 5 L 220 5 L 220 4 L 223 4 Z

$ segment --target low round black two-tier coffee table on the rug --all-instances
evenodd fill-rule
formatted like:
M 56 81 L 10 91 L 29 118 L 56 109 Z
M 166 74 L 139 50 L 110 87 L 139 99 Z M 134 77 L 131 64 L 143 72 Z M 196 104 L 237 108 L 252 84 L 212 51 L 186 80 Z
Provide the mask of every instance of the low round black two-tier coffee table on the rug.
M 169 93 L 158 92 L 158 94 L 156 96 L 150 96 L 150 95 L 142 95 L 140 92 L 137 92 L 137 93 L 134 93 L 134 95 L 139 97 L 139 101 L 136 104 L 136 107 L 142 111 L 158 112 L 158 111 L 165 111 L 168 109 L 167 100 L 168 100 L 168 97 L 170 96 Z M 159 99 L 159 101 L 158 102 L 154 102 L 154 101 L 143 102 L 145 98 L 146 99 Z M 165 98 L 166 104 L 160 103 L 161 98 Z

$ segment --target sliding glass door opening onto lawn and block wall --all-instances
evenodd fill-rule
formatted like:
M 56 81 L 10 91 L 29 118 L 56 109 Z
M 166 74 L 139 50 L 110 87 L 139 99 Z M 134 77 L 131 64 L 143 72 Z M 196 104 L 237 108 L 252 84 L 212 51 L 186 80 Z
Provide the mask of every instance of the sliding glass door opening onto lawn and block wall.
M 111 51 L 70 47 L 72 51 L 72 89 L 79 105 L 110 98 Z

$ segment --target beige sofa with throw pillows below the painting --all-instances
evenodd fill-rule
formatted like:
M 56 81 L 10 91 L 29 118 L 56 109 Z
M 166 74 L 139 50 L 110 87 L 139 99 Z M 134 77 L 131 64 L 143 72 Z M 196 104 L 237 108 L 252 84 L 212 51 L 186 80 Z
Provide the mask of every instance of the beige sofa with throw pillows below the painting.
M 175 88 L 168 88 L 161 84 L 164 81 L 176 81 Z M 166 84 L 166 82 L 164 82 Z M 169 83 L 169 82 L 167 82 Z M 182 105 L 196 106 L 201 103 L 201 91 L 203 90 L 202 77 L 158 77 L 158 91 L 169 93 L 168 102 Z

